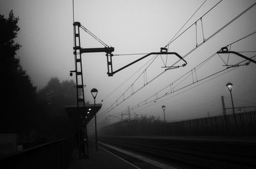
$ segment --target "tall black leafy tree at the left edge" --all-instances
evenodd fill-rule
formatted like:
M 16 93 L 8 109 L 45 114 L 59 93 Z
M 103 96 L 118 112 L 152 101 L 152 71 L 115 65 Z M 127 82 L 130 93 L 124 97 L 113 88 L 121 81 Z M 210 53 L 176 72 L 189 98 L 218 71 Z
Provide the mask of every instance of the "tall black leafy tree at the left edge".
M 33 87 L 26 71 L 20 66 L 15 43 L 19 18 L 10 11 L 9 18 L 0 15 L 1 73 L 3 75 L 2 103 L 0 115 L 1 133 L 20 133 L 31 128 L 29 117 L 36 107 L 36 87 Z M 33 106 L 32 106 L 33 105 Z

